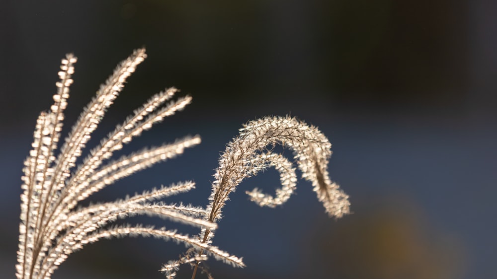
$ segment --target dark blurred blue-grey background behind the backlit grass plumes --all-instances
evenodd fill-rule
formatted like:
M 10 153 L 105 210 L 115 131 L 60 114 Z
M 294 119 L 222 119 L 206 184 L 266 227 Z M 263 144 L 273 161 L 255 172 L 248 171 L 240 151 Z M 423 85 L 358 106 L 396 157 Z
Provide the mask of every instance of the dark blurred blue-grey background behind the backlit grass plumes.
M 205 206 L 219 154 L 241 125 L 289 114 L 330 139 L 331 178 L 353 213 L 329 219 L 303 180 L 284 206 L 259 208 L 244 192 L 274 193 L 278 175 L 250 178 L 232 194 L 214 238 L 247 268 L 210 260 L 215 278 L 497 278 L 496 10 L 485 0 L 3 0 L 1 277 L 14 277 L 21 169 L 36 117 L 52 103 L 60 59 L 79 58 L 65 136 L 117 63 L 145 46 L 149 58 L 87 150 L 169 86 L 193 103 L 121 154 L 185 135 L 201 135 L 202 144 L 86 204 L 192 179 L 197 189 L 166 202 Z M 155 218 L 128 222 L 197 233 Z M 154 239 L 103 240 L 71 255 L 53 278 L 159 279 L 161 264 L 184 250 Z M 179 278 L 190 274 L 184 266 Z

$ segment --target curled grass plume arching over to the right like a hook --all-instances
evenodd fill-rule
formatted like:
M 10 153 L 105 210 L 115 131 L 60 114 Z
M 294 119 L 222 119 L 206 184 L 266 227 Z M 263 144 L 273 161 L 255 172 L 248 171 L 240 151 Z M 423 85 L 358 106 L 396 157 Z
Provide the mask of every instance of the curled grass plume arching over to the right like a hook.
M 302 178 L 312 183 L 319 201 L 330 216 L 339 218 L 349 212 L 348 196 L 331 182 L 328 175 L 331 143 L 323 133 L 295 118 L 265 117 L 247 123 L 240 129 L 240 135 L 227 144 L 214 174 L 206 220 L 218 222 L 229 194 L 245 178 L 269 166 L 274 166 L 280 173 L 282 188 L 276 190 L 276 197 L 263 194 L 258 189 L 247 194 L 260 206 L 274 207 L 288 200 L 295 189 L 295 168 L 286 158 L 271 152 L 271 147 L 276 144 L 293 151 Z M 209 228 L 203 229 L 200 234 L 202 242 L 211 243 L 213 232 Z M 203 252 L 201 250 L 197 255 Z M 198 265 L 197 261 L 192 279 L 195 278 Z

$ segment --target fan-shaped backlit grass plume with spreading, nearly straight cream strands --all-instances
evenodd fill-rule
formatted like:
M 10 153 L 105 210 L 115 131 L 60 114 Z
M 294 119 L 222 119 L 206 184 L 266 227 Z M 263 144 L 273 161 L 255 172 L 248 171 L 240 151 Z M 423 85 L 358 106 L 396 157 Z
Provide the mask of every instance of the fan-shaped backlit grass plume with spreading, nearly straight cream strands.
M 18 279 L 49 279 L 67 257 L 85 244 L 101 238 L 119 236 L 155 236 L 182 242 L 207 255 L 230 261 L 229 255 L 217 247 L 202 243 L 197 238 L 165 228 L 155 229 L 140 225 L 108 227 L 117 218 L 135 214 L 150 214 L 184 222 L 203 229 L 215 229 L 216 224 L 203 220 L 205 209 L 191 206 L 152 203 L 154 200 L 186 192 L 195 187 L 183 182 L 170 187 L 154 189 L 125 200 L 76 209 L 79 201 L 114 183 L 122 177 L 183 153 L 187 147 L 200 143 L 200 137 L 187 137 L 159 147 L 145 149 L 104 164 L 114 151 L 122 148 L 143 131 L 162 121 L 166 116 L 182 110 L 191 101 L 186 96 L 166 103 L 175 88 L 154 95 L 136 110 L 122 125 L 90 151 L 76 170 L 91 133 L 96 129 L 107 108 L 124 87 L 126 78 L 146 58 L 145 49 L 139 49 L 121 64 L 100 86 L 96 96 L 84 108 L 72 132 L 56 154 L 64 109 L 69 97 L 69 86 L 77 58 L 72 54 L 62 60 L 60 81 L 56 83 L 54 104 L 42 112 L 36 121 L 34 141 L 24 162 L 22 177 L 21 215 L 16 276 Z M 73 172 L 73 173 L 72 173 Z M 227 256 L 228 255 L 228 256 Z M 200 258 L 196 258 L 200 259 Z

